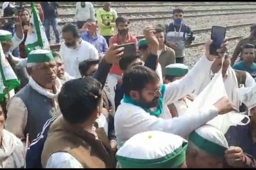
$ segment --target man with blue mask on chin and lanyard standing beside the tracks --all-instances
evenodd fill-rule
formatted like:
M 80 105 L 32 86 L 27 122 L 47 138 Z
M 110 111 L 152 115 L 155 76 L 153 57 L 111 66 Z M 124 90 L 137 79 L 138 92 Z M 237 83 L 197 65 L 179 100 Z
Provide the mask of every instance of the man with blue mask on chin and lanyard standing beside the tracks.
M 176 63 L 184 62 L 185 44 L 189 45 L 191 42 L 187 40 L 188 34 L 191 34 L 191 29 L 188 25 L 182 22 L 183 10 L 173 10 L 174 22 L 167 24 L 166 27 L 166 41 L 169 47 L 174 49 L 176 55 Z

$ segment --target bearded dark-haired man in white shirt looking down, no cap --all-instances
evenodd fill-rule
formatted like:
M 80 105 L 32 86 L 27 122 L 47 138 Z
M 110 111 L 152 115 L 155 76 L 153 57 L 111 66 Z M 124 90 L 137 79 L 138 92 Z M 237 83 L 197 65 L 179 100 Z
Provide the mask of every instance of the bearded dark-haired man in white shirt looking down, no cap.
M 89 58 L 98 59 L 98 51 L 92 44 L 81 39 L 79 30 L 73 24 L 68 23 L 62 28 L 62 37 L 65 42 L 60 46 L 60 57 L 66 72 L 80 78 L 79 62 Z

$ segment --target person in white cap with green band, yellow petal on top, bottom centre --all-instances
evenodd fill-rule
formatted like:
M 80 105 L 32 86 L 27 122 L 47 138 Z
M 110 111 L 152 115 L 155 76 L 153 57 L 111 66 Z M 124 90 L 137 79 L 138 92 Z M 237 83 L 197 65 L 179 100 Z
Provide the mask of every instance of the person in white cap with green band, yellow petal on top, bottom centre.
M 121 168 L 187 168 L 188 141 L 162 131 L 138 133 L 117 151 Z

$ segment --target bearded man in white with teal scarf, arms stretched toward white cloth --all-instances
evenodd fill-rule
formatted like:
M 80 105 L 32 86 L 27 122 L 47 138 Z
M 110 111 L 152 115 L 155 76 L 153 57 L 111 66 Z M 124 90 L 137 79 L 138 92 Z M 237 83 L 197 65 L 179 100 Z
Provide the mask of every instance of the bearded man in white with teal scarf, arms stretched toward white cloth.
M 210 107 L 198 108 L 194 113 L 176 118 L 171 117 L 167 107 L 191 93 L 202 83 L 207 70 L 217 57 L 210 55 L 211 43 L 212 41 L 206 42 L 205 55 L 185 77 L 167 85 L 161 85 L 156 72 L 145 66 L 136 65 L 125 71 L 122 78 L 124 98 L 114 117 L 118 148 L 133 135 L 150 130 L 160 130 L 185 137 L 218 114 L 237 111 L 228 97 L 221 98 Z M 223 43 L 218 51 L 224 52 L 226 45 L 227 42 Z

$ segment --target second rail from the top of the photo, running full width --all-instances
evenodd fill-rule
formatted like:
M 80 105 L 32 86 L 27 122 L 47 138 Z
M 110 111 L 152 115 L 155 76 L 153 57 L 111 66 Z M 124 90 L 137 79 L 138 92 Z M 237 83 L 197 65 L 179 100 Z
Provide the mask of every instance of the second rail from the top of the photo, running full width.
M 236 9 L 210 9 L 210 10 L 184 10 L 184 13 L 196 13 L 196 12 L 213 12 L 213 11 L 242 11 L 242 10 L 256 10 L 256 8 L 236 8 Z M 96 13 L 96 12 L 95 12 Z M 118 15 L 157 15 L 157 14 L 172 14 L 172 11 L 154 11 L 154 12 L 118 12 Z M 59 14 L 59 17 L 74 17 L 75 14 Z M 96 16 L 96 14 L 95 14 Z M 186 16 L 184 16 L 186 17 Z

